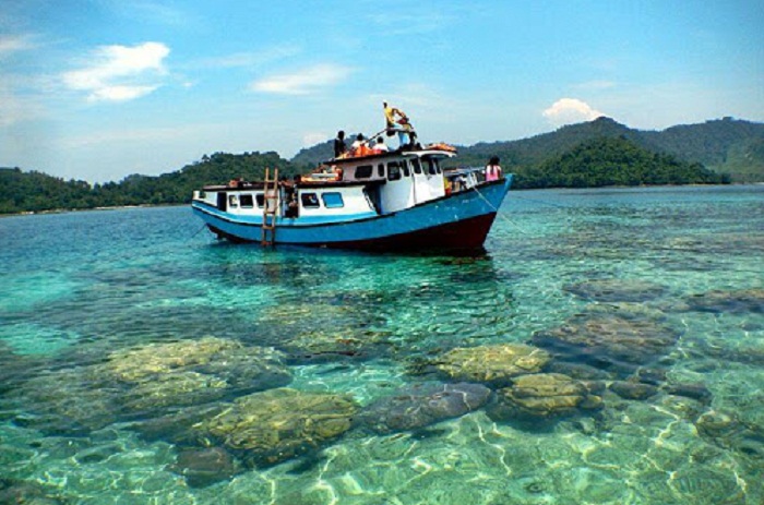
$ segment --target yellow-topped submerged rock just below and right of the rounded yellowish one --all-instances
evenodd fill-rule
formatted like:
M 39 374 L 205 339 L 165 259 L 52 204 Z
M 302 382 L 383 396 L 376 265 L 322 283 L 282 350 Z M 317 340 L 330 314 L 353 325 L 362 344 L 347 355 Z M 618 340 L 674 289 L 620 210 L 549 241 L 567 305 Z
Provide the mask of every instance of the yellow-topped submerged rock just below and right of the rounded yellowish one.
M 499 389 L 488 416 L 493 420 L 547 419 L 601 406 L 602 399 L 580 381 L 560 373 L 537 373 L 514 377 L 512 386 Z

